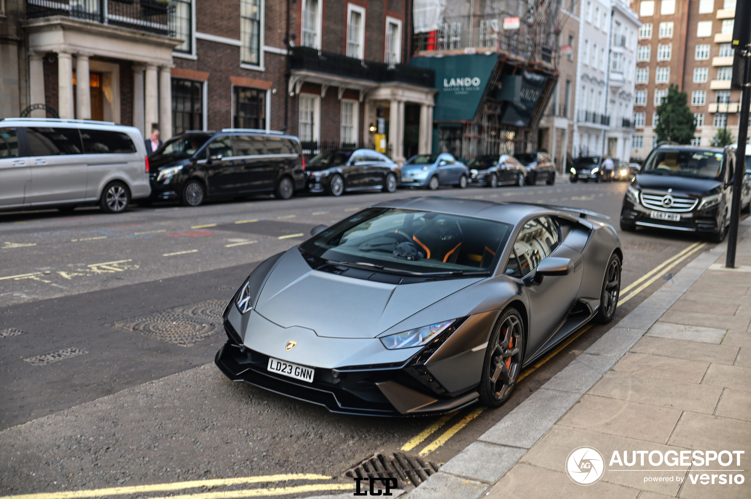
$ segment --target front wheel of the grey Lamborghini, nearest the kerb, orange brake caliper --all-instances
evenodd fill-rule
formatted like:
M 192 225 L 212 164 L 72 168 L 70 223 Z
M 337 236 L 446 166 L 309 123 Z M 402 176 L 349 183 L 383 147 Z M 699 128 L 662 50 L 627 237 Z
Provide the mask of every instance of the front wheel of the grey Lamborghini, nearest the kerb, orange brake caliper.
M 485 350 L 478 393 L 488 407 L 499 407 L 511 396 L 521 371 L 524 327 L 516 308 L 509 307 L 496 322 Z

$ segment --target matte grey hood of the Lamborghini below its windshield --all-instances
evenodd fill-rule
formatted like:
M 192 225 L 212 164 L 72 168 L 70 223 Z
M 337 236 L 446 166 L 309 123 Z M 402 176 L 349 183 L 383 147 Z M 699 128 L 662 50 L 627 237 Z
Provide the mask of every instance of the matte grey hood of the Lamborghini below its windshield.
M 385 284 L 313 270 L 288 251 L 255 300 L 258 314 L 329 338 L 375 338 L 407 317 L 482 278 Z M 427 326 L 428 324 L 424 324 Z

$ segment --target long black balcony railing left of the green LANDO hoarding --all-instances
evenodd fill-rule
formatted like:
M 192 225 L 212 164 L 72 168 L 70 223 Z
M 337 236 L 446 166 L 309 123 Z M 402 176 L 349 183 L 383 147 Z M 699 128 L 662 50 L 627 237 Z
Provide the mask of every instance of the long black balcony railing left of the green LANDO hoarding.
M 311 47 L 292 47 L 290 50 L 290 68 L 357 78 L 358 80 L 395 81 L 430 88 L 433 88 L 436 80 L 436 74 L 431 69 L 406 64 L 389 65 L 386 62 L 363 61 Z

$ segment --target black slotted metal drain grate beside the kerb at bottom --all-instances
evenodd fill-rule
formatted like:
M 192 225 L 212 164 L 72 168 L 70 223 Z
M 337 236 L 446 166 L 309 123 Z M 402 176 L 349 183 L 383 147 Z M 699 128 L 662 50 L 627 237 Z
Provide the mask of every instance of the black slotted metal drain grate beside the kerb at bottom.
M 440 467 L 440 464 L 425 461 L 416 455 L 403 452 L 384 455 L 379 452 L 351 467 L 344 474 L 350 478 L 395 478 L 397 488 L 409 490 L 427 480 Z M 375 487 L 383 488 L 380 481 L 376 482 Z

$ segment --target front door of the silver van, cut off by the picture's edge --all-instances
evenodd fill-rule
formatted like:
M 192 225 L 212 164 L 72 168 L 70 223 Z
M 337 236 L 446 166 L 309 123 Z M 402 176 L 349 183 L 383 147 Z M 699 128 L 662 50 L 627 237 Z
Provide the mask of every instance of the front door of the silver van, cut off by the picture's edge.
M 32 183 L 29 158 L 21 153 L 17 128 L 0 128 L 0 206 L 23 206 Z

